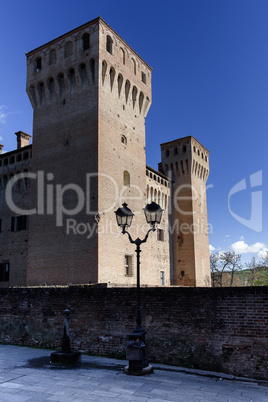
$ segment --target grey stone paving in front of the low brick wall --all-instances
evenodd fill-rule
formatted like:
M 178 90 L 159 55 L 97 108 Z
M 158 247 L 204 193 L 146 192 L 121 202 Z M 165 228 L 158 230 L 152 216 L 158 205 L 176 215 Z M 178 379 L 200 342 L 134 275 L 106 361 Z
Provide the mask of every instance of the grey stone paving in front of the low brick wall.
M 58 368 L 49 364 L 50 353 L 0 345 L 0 401 L 268 402 L 264 382 L 163 365 L 128 376 L 125 361 L 85 355 L 77 367 Z

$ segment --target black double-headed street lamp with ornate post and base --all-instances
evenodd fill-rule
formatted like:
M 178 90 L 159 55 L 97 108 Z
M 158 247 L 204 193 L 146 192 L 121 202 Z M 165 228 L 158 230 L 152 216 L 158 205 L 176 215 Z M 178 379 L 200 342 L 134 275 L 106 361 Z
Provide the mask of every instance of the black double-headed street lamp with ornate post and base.
M 147 223 L 151 225 L 151 229 L 148 230 L 145 238 L 141 240 L 139 237 L 133 240 L 127 231 L 127 228 L 131 226 L 133 219 L 133 212 L 124 203 L 122 208 L 118 208 L 115 211 L 116 220 L 118 226 L 122 228 L 122 233 L 127 233 L 130 243 L 136 244 L 137 254 L 137 308 L 136 308 L 136 328 L 128 334 L 128 346 L 127 346 L 127 359 L 129 365 L 126 368 L 128 374 L 148 374 L 152 372 L 152 366 L 148 364 L 145 357 L 145 330 L 141 326 L 141 302 L 140 302 L 140 246 L 148 239 L 149 233 L 154 232 L 156 225 L 161 222 L 163 209 L 155 202 L 147 204 L 144 208 L 144 214 Z

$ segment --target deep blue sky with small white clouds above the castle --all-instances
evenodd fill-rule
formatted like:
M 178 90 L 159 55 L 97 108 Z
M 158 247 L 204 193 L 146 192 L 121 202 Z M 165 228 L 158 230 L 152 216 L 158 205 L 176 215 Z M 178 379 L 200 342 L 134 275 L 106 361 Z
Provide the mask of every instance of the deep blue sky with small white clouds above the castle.
M 4 2 L 4 150 L 16 148 L 15 131 L 32 133 L 25 53 L 98 15 L 153 67 L 147 163 L 157 169 L 160 143 L 194 136 L 210 151 L 211 249 L 234 250 L 243 261 L 261 254 L 268 247 L 267 0 Z

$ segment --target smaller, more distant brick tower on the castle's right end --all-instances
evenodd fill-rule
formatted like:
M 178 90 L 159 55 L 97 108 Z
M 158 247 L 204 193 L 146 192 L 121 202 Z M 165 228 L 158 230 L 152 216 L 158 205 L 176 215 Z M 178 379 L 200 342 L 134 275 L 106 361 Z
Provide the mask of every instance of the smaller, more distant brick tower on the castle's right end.
M 161 144 L 161 155 L 163 173 L 172 179 L 174 285 L 210 286 L 206 202 L 209 152 L 189 136 Z

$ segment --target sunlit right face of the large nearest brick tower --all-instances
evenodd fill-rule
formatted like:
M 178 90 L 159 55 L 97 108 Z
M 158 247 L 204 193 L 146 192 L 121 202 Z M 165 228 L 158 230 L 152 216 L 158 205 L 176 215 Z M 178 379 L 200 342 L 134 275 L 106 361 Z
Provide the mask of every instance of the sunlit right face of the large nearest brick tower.
M 107 49 L 108 38 L 111 49 Z M 146 203 L 145 116 L 151 103 L 151 69 L 103 23 L 99 88 L 99 213 L 104 228 L 99 232 L 99 282 L 132 285 L 137 281 L 135 245 L 120 233 L 114 211 L 126 202 L 135 214 L 129 229 L 132 238 L 146 235 L 150 227 L 142 209 Z M 153 236 L 142 246 L 141 283 L 159 283 L 149 264 Z

